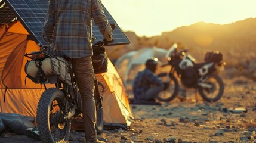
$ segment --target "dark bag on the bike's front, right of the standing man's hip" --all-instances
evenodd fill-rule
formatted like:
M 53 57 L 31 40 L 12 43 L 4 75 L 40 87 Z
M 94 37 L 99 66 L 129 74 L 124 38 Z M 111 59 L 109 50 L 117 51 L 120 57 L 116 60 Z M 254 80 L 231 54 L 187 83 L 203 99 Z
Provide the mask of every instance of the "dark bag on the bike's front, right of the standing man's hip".
M 107 72 L 107 54 L 105 48 L 102 46 L 96 46 L 92 48 L 93 55 L 91 57 L 94 73 L 106 73 Z

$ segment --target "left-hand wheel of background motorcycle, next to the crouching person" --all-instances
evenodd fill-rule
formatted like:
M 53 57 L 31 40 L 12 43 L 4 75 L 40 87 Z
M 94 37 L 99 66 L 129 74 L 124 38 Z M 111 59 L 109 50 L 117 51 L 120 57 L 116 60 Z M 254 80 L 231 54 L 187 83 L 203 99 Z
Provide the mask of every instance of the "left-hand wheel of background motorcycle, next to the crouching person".
M 158 74 L 158 77 L 160 77 L 163 81 L 165 81 L 165 78 L 169 76 L 169 73 L 160 73 Z M 178 85 L 178 80 L 174 75 L 169 76 L 169 88 L 166 89 L 165 91 L 161 91 L 158 94 L 158 100 L 159 101 L 164 101 L 164 102 L 169 102 L 173 100 L 175 97 L 178 95 L 178 91 L 180 89 Z

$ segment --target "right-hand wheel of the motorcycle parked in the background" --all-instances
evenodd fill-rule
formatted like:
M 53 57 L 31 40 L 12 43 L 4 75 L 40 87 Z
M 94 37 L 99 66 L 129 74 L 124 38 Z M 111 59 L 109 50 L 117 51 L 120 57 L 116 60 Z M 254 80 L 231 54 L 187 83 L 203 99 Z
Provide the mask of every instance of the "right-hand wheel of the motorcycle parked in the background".
M 199 94 L 203 98 L 203 100 L 208 102 L 215 102 L 220 100 L 224 92 L 224 83 L 220 76 L 217 74 L 211 74 L 206 77 L 204 83 L 211 86 L 211 88 L 201 87 L 199 86 Z

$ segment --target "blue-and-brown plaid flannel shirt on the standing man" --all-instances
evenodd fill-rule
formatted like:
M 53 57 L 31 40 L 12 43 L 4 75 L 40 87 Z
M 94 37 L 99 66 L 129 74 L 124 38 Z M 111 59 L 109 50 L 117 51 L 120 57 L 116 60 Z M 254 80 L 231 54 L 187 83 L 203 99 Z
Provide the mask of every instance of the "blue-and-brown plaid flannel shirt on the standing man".
M 50 0 L 42 35 L 50 53 L 80 58 L 92 55 L 92 18 L 104 35 L 110 24 L 99 0 Z

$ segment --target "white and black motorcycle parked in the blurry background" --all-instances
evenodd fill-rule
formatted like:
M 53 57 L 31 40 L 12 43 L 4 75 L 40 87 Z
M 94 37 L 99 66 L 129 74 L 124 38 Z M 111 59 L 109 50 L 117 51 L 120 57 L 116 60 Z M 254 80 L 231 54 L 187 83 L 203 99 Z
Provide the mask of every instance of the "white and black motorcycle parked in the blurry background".
M 188 50 L 178 51 L 174 44 L 166 53 L 167 63 L 162 67 L 171 66 L 169 73 L 160 73 L 163 81 L 169 82 L 169 87 L 158 95 L 159 101 L 171 101 L 177 97 L 181 84 L 186 88 L 195 88 L 203 100 L 215 102 L 220 100 L 224 92 L 224 83 L 218 73 L 224 70 L 226 64 L 220 52 L 208 52 L 204 63 L 195 63 L 195 59 L 187 54 Z M 174 74 L 177 73 L 177 76 Z

